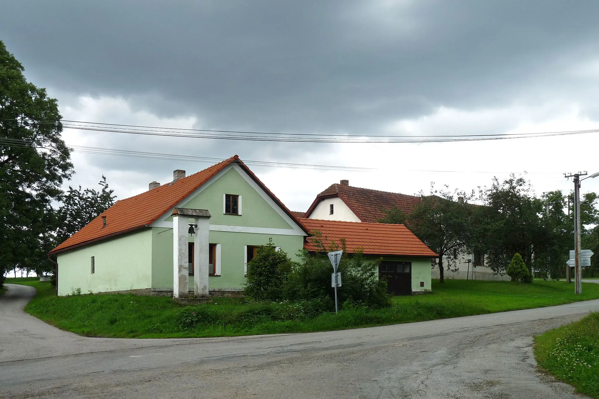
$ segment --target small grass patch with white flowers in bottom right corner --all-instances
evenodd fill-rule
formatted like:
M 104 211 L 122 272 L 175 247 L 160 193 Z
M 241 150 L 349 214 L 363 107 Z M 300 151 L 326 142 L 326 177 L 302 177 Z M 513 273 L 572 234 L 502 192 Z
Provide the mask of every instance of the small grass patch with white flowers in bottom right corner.
M 537 336 L 534 357 L 578 392 L 599 398 L 599 313 Z

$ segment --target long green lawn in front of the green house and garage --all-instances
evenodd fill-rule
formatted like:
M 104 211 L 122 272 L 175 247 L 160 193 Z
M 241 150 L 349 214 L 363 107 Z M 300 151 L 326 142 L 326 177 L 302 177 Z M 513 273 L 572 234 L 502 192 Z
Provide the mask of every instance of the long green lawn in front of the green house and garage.
M 599 284 L 583 284 L 583 294 L 565 281 L 519 284 L 500 281 L 433 281 L 430 294 L 395 297 L 385 309 L 346 307 L 337 315 L 316 304 L 255 303 L 216 298 L 213 303 L 179 306 L 170 298 L 131 294 L 54 296 L 49 282 L 32 285 L 38 294 L 25 307 L 31 315 L 64 330 L 101 337 L 217 337 L 297 333 L 398 324 L 598 299 Z M 342 290 L 343 288 L 341 288 Z

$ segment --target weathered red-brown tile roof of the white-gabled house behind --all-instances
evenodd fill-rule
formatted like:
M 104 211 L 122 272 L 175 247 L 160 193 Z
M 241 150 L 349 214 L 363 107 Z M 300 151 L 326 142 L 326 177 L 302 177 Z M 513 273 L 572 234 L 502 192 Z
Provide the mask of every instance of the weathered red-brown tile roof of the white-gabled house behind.
M 323 199 L 339 197 L 363 222 L 376 223 L 385 218 L 383 209 L 397 206 L 405 214 L 410 214 L 420 203 L 420 197 L 408 196 L 388 191 L 371 190 L 370 188 L 352 187 L 351 185 L 332 184 L 329 188 L 316 196 L 306 215 L 310 215 L 316 205 Z

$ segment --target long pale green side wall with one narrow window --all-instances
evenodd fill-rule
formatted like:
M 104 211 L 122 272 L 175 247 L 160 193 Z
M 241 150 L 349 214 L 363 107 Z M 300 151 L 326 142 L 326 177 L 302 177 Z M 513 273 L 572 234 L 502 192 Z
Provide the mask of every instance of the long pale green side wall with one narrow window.
M 173 234 L 171 232 L 171 246 Z M 91 257 L 95 270 L 91 273 Z M 173 255 L 171 250 L 171 280 Z M 152 231 L 114 239 L 58 254 L 58 294 L 139 290 L 152 287 Z

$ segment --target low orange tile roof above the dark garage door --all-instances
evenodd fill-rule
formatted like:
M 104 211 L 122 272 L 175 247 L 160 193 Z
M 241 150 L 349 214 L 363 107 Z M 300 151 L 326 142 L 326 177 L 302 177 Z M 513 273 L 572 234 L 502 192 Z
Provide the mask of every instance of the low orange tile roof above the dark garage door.
M 332 242 L 340 246 L 345 239 L 346 250 L 368 255 L 401 255 L 416 257 L 437 257 L 434 251 L 410 232 L 403 224 L 345 222 L 337 220 L 299 219 L 310 233 L 316 236 L 304 241 L 308 251 L 322 251 L 318 240 L 326 246 Z M 319 237 L 319 234 L 322 234 Z M 326 248 L 329 249 L 329 248 Z

